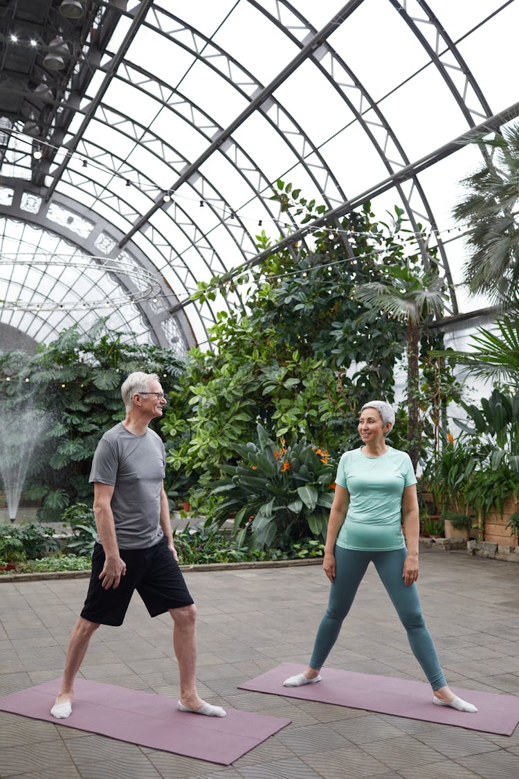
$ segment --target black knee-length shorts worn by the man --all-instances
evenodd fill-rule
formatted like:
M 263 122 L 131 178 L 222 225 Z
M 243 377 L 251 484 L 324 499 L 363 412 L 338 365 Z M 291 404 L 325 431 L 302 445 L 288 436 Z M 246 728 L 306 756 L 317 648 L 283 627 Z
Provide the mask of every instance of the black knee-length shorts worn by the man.
M 83 619 L 101 625 L 122 625 L 135 590 L 152 617 L 164 614 L 170 608 L 194 603 L 181 569 L 167 546 L 166 536 L 155 546 L 120 549 L 119 554 L 126 563 L 126 573 L 121 576 L 118 587 L 104 590 L 99 578 L 104 550 L 100 544 L 94 546 L 89 590 L 81 612 Z

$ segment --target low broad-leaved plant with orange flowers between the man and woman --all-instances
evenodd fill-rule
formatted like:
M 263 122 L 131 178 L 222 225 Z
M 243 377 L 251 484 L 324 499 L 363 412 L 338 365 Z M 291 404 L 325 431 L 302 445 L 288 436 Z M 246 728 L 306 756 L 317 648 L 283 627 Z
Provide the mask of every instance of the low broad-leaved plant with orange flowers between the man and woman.
M 328 453 L 310 446 L 304 436 L 276 444 L 258 424 L 256 442 L 236 444 L 236 465 L 222 467 L 212 494 L 220 502 L 214 520 L 234 515 L 233 533 L 240 545 L 289 549 L 310 534 L 325 538 L 333 501 L 335 463 Z

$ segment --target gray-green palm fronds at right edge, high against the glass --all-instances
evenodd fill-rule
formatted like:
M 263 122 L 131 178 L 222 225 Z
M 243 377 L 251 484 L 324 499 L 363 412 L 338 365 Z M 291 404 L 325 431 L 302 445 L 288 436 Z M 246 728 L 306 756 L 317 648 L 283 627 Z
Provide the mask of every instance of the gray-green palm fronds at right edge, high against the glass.
M 519 125 L 476 143 L 485 162 L 461 180 L 468 192 L 453 212 L 468 226 L 471 256 L 463 281 L 473 294 L 485 293 L 503 308 L 517 304 L 519 291 Z

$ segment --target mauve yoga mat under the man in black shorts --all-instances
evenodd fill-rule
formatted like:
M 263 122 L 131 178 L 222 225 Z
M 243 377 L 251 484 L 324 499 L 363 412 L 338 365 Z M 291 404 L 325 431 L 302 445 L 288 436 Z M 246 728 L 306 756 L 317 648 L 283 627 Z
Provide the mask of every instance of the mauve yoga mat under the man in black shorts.
M 230 765 L 291 720 L 226 708 L 226 717 L 177 710 L 177 700 L 77 679 L 72 716 L 51 717 L 61 679 L 0 698 L 0 710 L 99 733 L 139 746 Z

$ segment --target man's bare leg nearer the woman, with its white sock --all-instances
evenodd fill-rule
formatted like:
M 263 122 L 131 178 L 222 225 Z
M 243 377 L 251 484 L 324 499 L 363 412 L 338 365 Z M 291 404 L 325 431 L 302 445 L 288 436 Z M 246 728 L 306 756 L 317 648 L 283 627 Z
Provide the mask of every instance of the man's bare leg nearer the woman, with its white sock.
M 178 661 L 181 682 L 179 709 L 207 714 L 210 717 L 225 717 L 222 707 L 205 703 L 196 689 L 196 606 L 170 608 L 174 620 L 173 648 Z

